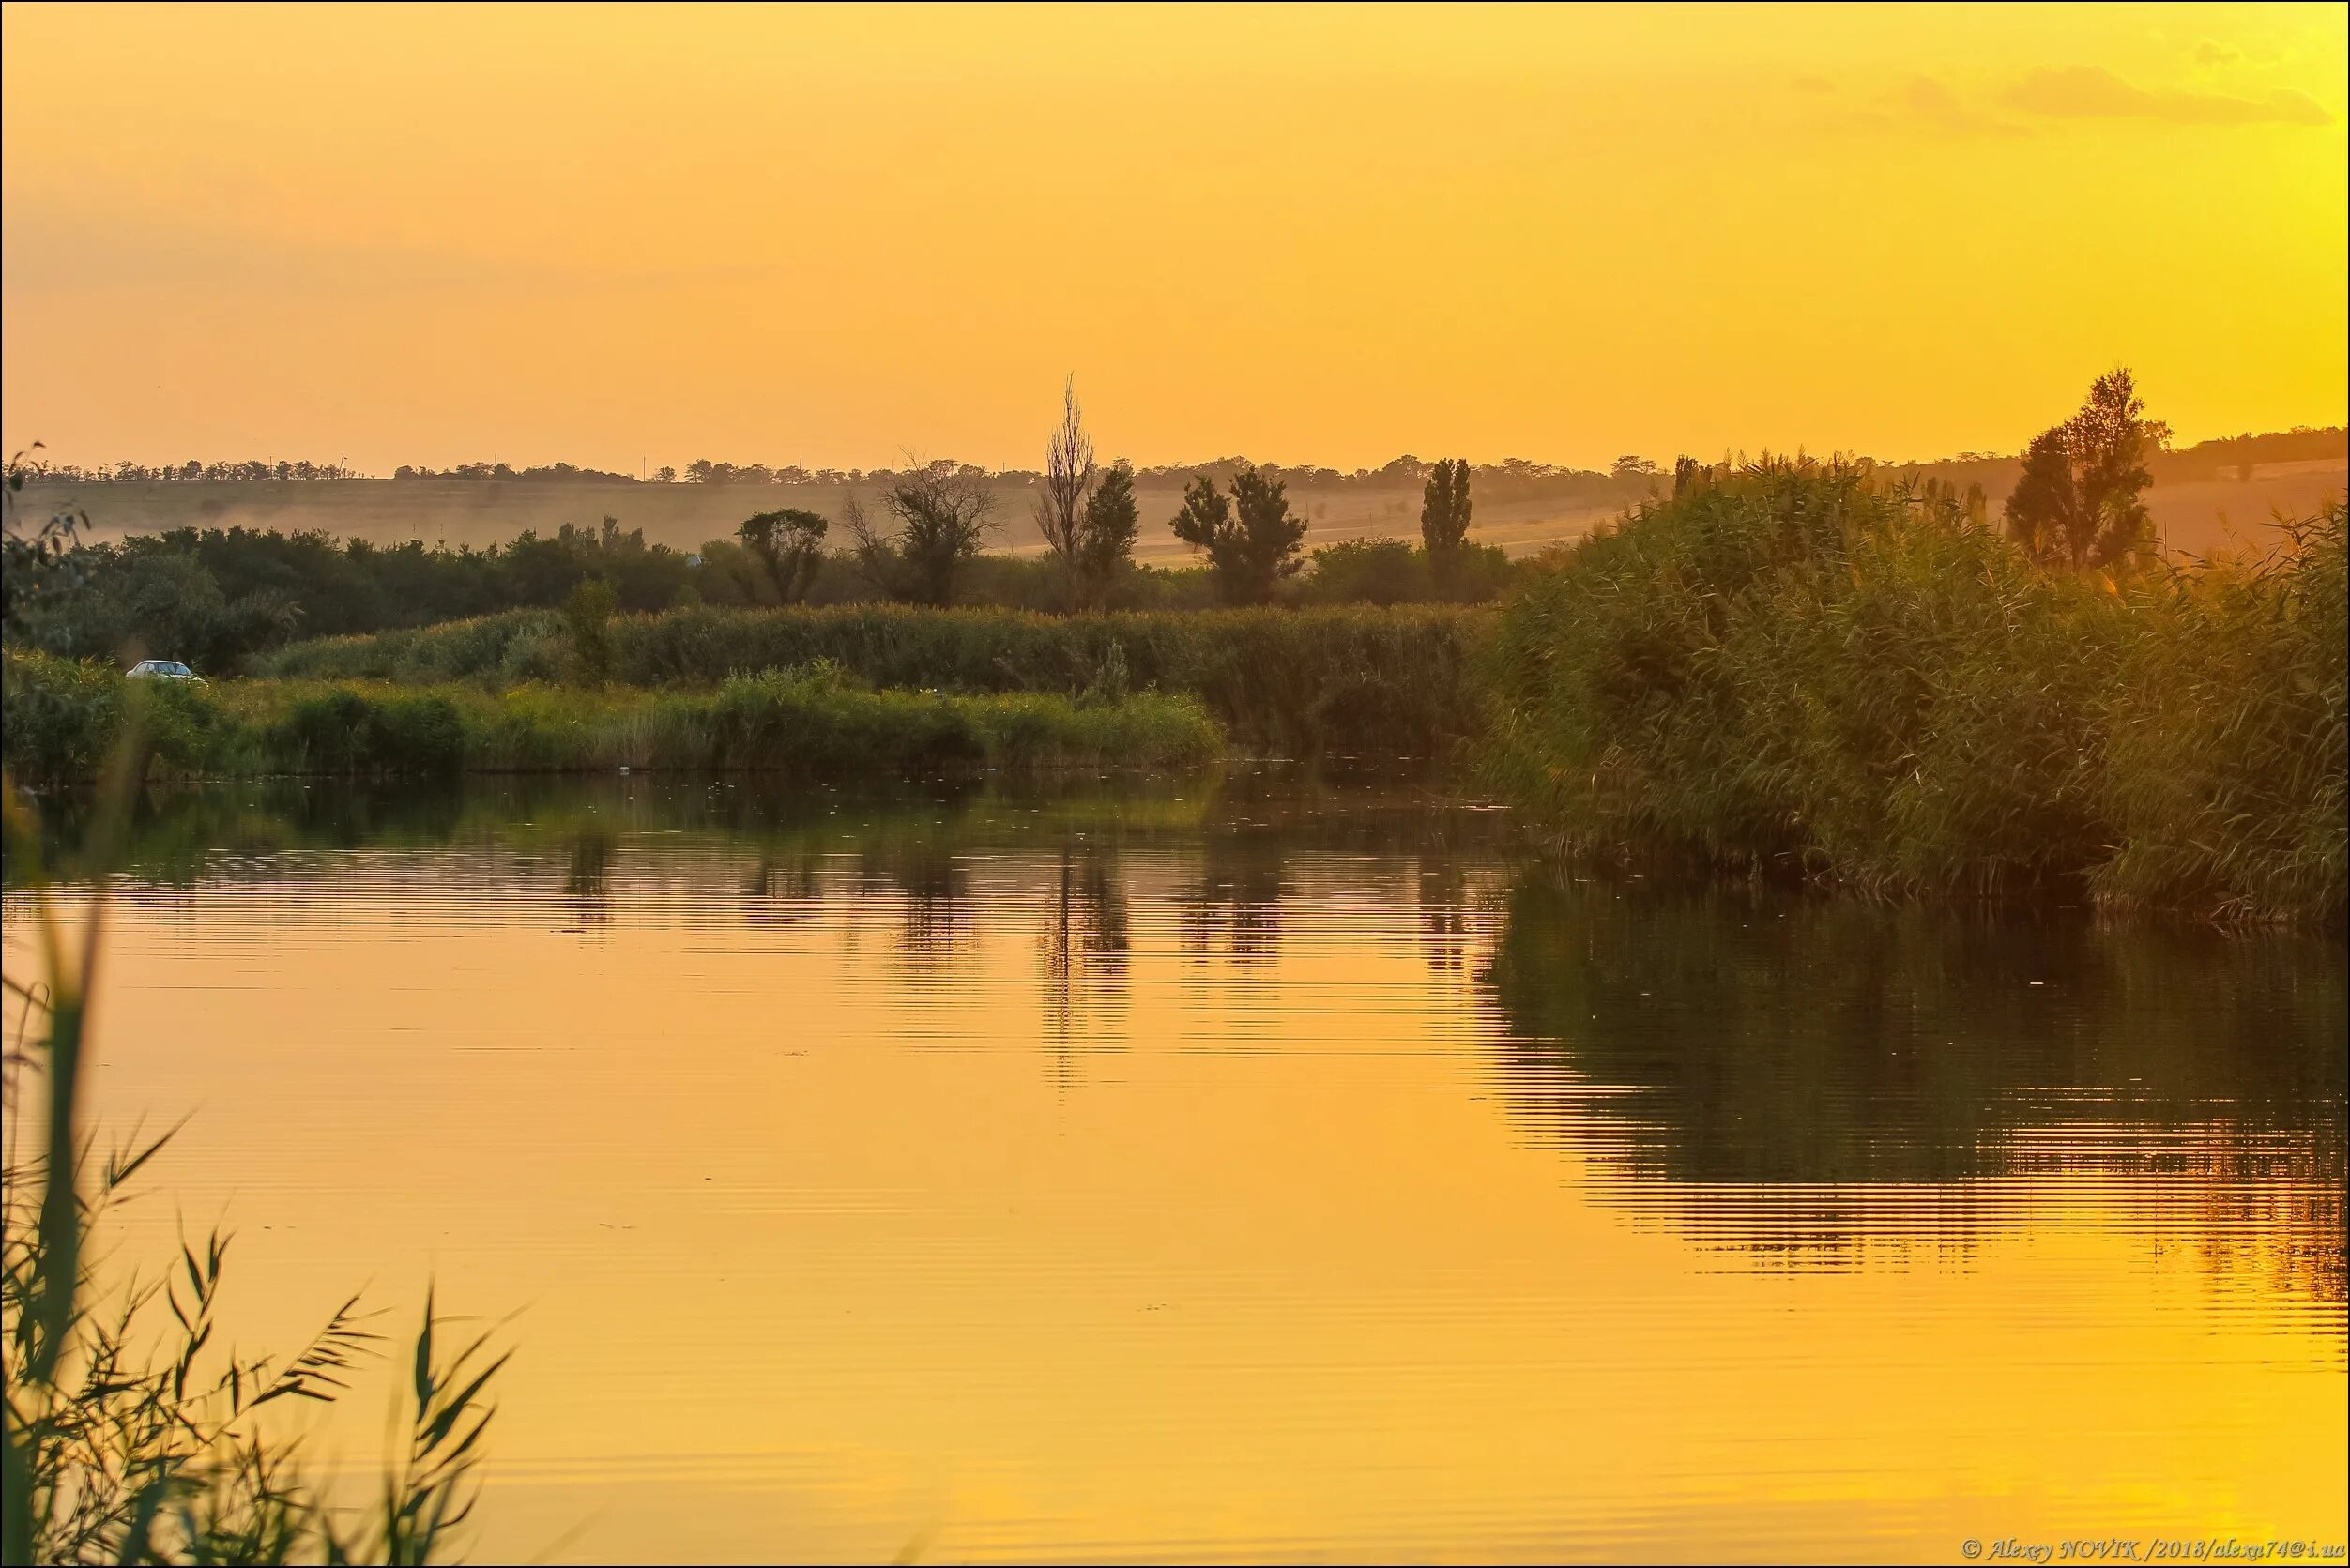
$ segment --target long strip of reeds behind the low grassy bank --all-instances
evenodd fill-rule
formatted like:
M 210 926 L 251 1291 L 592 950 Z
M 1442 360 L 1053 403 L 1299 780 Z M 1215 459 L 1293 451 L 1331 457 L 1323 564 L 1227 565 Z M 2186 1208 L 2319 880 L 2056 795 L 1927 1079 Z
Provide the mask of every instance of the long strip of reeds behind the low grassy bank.
M 674 609 L 606 628 L 613 679 L 712 686 L 830 661 L 874 686 L 1198 698 L 1234 741 L 1292 755 L 1448 750 L 1476 710 L 1469 665 L 1490 609 L 1330 607 L 1041 616 L 1013 609 Z M 559 616 L 515 611 L 411 632 L 303 642 L 256 663 L 282 679 L 566 682 Z

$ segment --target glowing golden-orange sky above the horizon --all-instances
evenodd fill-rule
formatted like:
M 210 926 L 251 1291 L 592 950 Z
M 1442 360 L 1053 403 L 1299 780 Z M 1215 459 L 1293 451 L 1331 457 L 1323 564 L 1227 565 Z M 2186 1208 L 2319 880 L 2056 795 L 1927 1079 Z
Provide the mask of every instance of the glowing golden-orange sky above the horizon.
M 2016 449 L 2345 418 L 2345 7 L 5 7 L 63 461 Z

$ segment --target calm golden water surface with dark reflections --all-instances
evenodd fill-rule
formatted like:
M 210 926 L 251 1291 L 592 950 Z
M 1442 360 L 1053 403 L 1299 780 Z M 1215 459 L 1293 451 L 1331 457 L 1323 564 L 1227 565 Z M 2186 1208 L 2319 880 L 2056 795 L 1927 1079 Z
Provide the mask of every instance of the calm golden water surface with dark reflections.
M 2338 940 L 1255 776 L 183 795 L 113 919 L 125 1251 L 515 1312 L 491 1561 L 2345 1537 Z

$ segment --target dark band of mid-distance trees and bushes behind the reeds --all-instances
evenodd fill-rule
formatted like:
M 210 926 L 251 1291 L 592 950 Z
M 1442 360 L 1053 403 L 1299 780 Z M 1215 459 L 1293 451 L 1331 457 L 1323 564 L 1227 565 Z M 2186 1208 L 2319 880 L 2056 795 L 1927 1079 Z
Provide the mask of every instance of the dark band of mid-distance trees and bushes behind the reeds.
M 851 494 L 841 527 L 806 508 L 745 517 L 731 538 L 686 552 L 646 543 L 611 515 L 505 545 L 374 545 L 324 531 L 169 529 L 92 545 L 78 505 L 24 536 L 16 494 L 38 470 L 12 463 L 5 632 L 12 646 L 66 658 L 162 656 L 214 672 L 296 637 L 381 632 L 494 611 L 562 607 L 573 621 L 686 607 L 801 607 L 888 599 L 921 609 L 1034 611 L 1206 609 L 1267 604 L 1473 604 L 1520 571 L 1469 541 L 1471 470 L 1426 468 L 1419 548 L 1342 541 L 1307 552 L 1309 524 L 1288 484 L 1241 465 L 1196 473 L 1163 520 L 1201 567 L 1142 567 L 1135 473 L 1095 461 L 1074 383 L 1032 496 L 1046 555 L 987 555 L 999 489 L 968 465 L 928 463 L 879 494 Z M 1159 522 L 1159 520 L 1154 520 Z M 846 538 L 846 550 L 839 543 Z

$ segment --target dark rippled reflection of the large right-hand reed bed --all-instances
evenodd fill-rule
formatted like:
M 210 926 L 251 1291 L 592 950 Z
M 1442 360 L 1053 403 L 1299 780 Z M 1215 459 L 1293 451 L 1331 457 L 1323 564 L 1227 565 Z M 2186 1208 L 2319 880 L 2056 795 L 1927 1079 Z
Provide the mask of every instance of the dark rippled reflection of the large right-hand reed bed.
M 1706 1241 L 1800 1267 L 1962 1253 L 2056 1175 L 2218 1272 L 2343 1300 L 2324 938 L 1528 875 L 1478 983 L 1513 1114 Z

